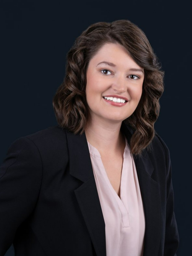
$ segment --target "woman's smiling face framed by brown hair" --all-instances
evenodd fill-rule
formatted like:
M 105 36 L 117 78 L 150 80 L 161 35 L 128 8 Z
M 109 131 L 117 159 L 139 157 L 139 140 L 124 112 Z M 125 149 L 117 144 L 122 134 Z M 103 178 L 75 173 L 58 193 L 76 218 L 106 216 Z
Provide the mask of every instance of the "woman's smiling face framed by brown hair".
M 114 123 L 131 116 L 142 95 L 143 79 L 144 69 L 123 46 L 104 44 L 87 68 L 85 92 L 91 120 Z

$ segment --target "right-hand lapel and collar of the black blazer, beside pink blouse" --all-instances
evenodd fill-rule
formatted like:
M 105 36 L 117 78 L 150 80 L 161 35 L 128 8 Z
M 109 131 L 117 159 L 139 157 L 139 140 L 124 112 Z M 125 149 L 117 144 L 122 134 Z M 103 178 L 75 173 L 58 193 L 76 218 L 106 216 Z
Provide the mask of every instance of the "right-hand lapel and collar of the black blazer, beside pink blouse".
M 122 123 L 122 131 L 130 143 L 133 130 Z M 161 239 L 162 209 L 160 200 L 159 183 L 152 179 L 154 171 L 150 156 L 144 150 L 141 157 L 134 155 L 140 192 L 145 212 L 145 238 L 143 256 L 156 256 Z

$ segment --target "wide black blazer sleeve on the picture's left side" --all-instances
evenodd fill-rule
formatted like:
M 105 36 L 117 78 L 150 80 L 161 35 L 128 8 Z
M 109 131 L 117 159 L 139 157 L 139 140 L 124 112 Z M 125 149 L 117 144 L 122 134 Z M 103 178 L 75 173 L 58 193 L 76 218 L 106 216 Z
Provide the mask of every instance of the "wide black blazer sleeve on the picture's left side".
M 42 161 L 37 146 L 21 137 L 9 147 L 0 166 L 0 256 L 11 246 L 17 228 L 37 203 Z

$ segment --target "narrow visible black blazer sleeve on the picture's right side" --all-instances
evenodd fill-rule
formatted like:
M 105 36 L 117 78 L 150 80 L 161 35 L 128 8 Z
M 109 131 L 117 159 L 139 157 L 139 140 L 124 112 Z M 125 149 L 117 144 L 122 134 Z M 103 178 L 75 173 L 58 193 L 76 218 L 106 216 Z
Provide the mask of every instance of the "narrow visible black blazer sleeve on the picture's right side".
M 166 227 L 163 256 L 177 256 L 176 252 L 179 246 L 179 235 L 174 213 L 174 191 L 172 186 L 171 158 L 167 145 L 160 136 L 158 136 L 158 138 L 160 139 L 166 154 Z

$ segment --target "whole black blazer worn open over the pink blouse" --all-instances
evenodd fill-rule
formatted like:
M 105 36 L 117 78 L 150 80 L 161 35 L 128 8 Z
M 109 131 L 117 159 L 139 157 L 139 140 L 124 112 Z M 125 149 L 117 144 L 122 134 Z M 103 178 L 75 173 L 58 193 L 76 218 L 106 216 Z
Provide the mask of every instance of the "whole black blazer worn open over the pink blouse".
M 124 122 L 121 129 L 130 143 L 133 131 Z M 151 152 L 134 160 L 145 211 L 143 256 L 176 256 L 169 149 L 155 134 Z M 9 147 L 0 166 L 0 256 L 12 243 L 16 256 L 106 256 L 85 133 L 52 126 Z

